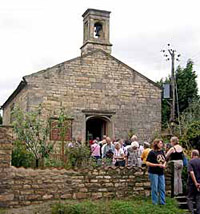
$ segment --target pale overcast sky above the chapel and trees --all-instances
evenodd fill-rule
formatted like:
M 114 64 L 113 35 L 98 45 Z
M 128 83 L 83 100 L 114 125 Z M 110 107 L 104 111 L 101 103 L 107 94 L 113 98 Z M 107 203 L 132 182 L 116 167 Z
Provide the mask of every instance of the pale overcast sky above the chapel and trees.
M 200 86 L 198 0 L 0 0 L 0 105 L 23 76 L 80 56 L 82 14 L 111 11 L 112 55 L 153 81 L 170 74 L 161 49 L 194 61 Z M 176 63 L 176 66 L 178 64 Z

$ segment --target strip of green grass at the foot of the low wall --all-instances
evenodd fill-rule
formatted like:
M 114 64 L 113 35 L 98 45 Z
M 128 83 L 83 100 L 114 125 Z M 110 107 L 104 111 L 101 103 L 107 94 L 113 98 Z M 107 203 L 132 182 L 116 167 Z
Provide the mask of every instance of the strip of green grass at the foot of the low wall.
M 108 201 L 66 201 L 57 203 L 52 214 L 181 214 L 174 199 L 167 198 L 166 205 L 152 205 L 149 198 Z

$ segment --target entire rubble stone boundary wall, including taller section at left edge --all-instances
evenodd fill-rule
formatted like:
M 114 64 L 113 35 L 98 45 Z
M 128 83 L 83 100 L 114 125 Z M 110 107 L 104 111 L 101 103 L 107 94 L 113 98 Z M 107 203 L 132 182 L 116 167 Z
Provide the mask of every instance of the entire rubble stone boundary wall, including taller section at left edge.
M 0 128 L 0 207 L 21 207 L 59 199 L 95 200 L 150 195 L 146 168 L 34 170 L 12 167 L 12 139 L 7 131 Z M 170 191 L 170 179 L 167 173 L 167 191 Z

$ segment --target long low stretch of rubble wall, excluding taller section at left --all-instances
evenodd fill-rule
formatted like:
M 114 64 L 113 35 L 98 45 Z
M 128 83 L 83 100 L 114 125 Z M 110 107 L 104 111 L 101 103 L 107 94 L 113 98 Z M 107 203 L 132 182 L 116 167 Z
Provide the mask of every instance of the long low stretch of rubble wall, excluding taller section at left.
M 124 198 L 149 195 L 143 169 L 114 167 L 103 169 L 33 170 L 10 168 L 12 201 L 8 206 L 24 206 L 53 199 Z

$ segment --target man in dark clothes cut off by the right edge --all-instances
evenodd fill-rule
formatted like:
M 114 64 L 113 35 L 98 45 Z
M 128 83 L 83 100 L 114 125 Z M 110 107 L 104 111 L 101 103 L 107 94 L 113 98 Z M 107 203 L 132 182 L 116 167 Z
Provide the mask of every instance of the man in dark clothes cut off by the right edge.
M 192 150 L 188 164 L 188 209 L 194 214 L 193 201 L 196 199 L 196 213 L 200 214 L 200 159 L 199 151 Z

